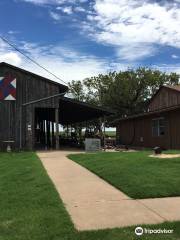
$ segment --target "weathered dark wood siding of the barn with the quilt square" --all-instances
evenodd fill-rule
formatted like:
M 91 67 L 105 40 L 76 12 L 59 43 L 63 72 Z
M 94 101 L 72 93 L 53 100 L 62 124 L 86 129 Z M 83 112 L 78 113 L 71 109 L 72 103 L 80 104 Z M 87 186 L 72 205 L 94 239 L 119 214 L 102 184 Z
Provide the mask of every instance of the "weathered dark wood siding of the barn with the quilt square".
M 62 92 L 60 86 L 51 81 L 45 81 L 36 75 L 18 71 L 9 66 L 0 67 L 0 76 L 11 74 L 17 80 L 16 101 L 0 102 L 0 149 L 3 149 L 3 141 L 15 141 L 14 147 L 20 145 L 20 110 L 23 103 L 38 100 Z M 27 131 L 30 124 L 33 129 L 34 112 L 36 107 L 58 108 L 58 99 L 50 99 L 45 102 L 23 107 L 22 110 L 22 143 L 24 148 L 33 147 L 33 131 Z

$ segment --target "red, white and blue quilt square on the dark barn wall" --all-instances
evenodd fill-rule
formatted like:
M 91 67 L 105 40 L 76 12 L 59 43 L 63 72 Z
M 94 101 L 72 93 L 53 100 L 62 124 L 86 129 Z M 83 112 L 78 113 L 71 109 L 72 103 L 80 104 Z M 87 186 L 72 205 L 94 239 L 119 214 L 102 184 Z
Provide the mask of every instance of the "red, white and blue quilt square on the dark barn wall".
M 10 74 L 0 77 L 0 101 L 16 100 L 16 78 Z

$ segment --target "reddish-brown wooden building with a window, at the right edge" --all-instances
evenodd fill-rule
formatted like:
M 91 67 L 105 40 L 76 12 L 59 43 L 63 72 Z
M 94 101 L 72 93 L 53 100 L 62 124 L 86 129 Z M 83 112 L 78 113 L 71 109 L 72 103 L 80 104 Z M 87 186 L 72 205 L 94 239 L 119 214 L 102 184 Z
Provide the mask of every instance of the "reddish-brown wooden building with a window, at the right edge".
M 119 145 L 180 149 L 180 86 L 162 86 L 147 112 L 119 119 L 115 124 Z

